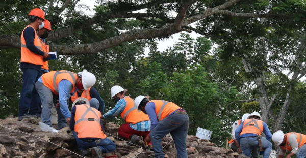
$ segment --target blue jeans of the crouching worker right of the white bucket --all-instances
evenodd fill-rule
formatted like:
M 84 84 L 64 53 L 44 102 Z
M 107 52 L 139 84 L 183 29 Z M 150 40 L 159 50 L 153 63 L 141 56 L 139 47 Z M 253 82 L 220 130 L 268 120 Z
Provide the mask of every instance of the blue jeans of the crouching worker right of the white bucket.
M 265 137 L 261 137 L 262 148 L 265 149 L 263 158 L 269 158 L 272 143 L 269 142 Z M 244 155 L 251 157 L 251 151 L 253 148 L 259 148 L 257 137 L 242 137 L 240 138 L 240 146 Z

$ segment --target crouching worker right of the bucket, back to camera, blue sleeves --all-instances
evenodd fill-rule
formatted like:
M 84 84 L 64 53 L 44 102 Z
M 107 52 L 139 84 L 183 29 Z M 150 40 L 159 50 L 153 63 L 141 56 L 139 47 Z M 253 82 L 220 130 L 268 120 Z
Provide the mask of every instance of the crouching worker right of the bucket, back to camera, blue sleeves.
M 262 132 L 264 132 L 266 138 L 262 137 Z M 270 142 L 272 134 L 258 112 L 251 113 L 248 119 L 239 125 L 235 131 L 235 137 L 246 156 L 251 157 L 253 148 L 262 148 L 264 149 L 263 158 L 269 158 L 272 150 L 272 143 Z

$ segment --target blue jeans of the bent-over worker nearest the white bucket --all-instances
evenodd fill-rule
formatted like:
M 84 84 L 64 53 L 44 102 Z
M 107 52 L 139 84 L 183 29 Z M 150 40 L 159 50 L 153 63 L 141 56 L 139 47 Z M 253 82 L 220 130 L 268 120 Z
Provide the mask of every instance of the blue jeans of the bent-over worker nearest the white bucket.
M 150 132 L 155 157 L 164 158 L 165 154 L 163 151 L 162 139 L 170 133 L 174 140 L 177 157 L 187 158 L 186 137 L 188 127 L 189 117 L 187 113 L 181 114 L 175 112 L 158 122 L 156 127 Z

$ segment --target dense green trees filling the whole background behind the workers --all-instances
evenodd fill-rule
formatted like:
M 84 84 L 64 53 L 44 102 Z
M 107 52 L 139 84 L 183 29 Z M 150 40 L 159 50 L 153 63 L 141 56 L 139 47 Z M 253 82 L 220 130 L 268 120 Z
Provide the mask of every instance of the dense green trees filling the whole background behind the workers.
M 54 30 L 47 44 L 60 54 L 50 70 L 95 74 L 105 111 L 114 106 L 111 87 L 120 85 L 132 98 L 148 94 L 183 107 L 189 134 L 211 130 L 218 145 L 253 111 L 273 131 L 306 134 L 304 1 L 95 2 L 93 16 L 79 0 L 1 2 L 1 118 L 18 112 L 20 36 L 31 9 L 41 8 Z M 158 51 L 158 40 L 176 33 L 179 41 Z

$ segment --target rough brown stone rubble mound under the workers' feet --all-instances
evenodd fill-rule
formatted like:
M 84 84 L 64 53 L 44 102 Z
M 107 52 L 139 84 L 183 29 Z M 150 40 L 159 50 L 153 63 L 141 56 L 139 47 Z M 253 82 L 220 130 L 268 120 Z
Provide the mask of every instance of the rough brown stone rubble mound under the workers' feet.
M 17 120 L 17 118 L 10 117 L 0 121 L 0 125 L 4 126 L 0 128 L 0 158 L 74 158 L 79 156 L 72 152 L 81 154 L 68 126 L 59 130 L 59 133 L 47 133 L 39 128 L 39 119 L 37 118 L 27 118 L 23 121 Z M 103 120 L 103 124 L 106 135 L 117 145 L 115 152 L 103 154 L 103 157 L 116 155 L 118 158 L 154 158 L 152 151 L 141 148 L 141 142 L 137 146 L 130 146 L 122 139 L 119 139 L 117 132 L 120 125 L 107 120 Z M 8 128 L 22 132 L 25 131 L 36 137 Z M 162 146 L 165 157 L 177 157 L 175 144 L 170 134 L 162 139 Z M 231 149 L 219 148 L 208 140 L 200 140 L 197 136 L 187 136 L 186 147 L 189 158 L 246 158 L 244 155 L 239 155 Z

